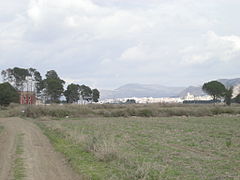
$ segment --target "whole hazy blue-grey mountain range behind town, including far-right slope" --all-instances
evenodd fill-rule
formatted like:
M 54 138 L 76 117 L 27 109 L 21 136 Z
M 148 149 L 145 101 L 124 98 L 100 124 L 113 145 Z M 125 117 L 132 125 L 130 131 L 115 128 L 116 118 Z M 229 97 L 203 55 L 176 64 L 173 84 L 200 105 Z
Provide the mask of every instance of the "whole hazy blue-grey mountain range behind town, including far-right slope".
M 218 79 L 226 87 L 240 85 L 240 78 Z M 114 90 L 100 90 L 101 99 L 131 98 L 131 97 L 184 97 L 187 93 L 202 96 L 205 93 L 201 86 L 169 87 L 158 84 L 126 84 Z

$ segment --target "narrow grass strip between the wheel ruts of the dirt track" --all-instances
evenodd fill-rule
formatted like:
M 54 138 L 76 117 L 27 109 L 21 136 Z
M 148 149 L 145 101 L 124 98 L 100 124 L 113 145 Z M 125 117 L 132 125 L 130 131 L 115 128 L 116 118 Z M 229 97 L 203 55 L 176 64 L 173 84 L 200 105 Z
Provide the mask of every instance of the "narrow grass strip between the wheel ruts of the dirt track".
M 16 137 L 16 158 L 13 167 L 14 180 L 22 180 L 25 177 L 24 159 L 21 157 L 23 154 L 23 136 L 24 134 L 18 134 Z

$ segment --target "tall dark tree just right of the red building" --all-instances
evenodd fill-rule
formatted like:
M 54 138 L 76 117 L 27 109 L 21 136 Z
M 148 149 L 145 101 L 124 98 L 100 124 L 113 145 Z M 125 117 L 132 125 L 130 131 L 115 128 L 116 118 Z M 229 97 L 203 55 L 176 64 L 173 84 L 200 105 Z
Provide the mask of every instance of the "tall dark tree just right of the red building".
M 51 103 L 59 103 L 59 99 L 64 92 L 65 82 L 60 79 L 54 70 L 48 71 L 46 79 L 43 80 L 44 93 Z

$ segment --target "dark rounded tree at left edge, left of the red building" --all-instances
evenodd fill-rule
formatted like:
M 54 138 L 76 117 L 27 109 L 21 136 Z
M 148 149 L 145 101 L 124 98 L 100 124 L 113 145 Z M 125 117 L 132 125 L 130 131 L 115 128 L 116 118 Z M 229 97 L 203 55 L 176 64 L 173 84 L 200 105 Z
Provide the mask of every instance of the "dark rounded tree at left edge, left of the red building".
M 0 105 L 8 106 L 10 103 L 19 103 L 17 90 L 8 82 L 0 84 Z

